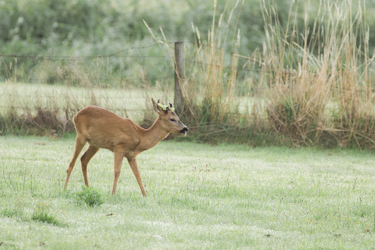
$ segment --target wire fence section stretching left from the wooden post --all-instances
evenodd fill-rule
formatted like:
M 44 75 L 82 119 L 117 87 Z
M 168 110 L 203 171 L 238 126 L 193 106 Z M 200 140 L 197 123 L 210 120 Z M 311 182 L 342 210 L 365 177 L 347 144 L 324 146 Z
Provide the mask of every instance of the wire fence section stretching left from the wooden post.
M 169 93 L 165 91 L 174 81 L 174 56 L 170 53 L 174 49 L 173 46 L 174 42 L 154 43 L 147 46 L 131 46 L 105 55 L 88 56 L 0 54 L 2 59 L 0 77 L 3 80 L 14 83 L 32 83 L 35 87 L 35 89 L 24 85 L 20 85 L 19 88 L 6 89 L 3 87 L 2 93 L 0 93 L 3 97 L 3 101 L 0 100 L 0 109 L 37 111 L 38 109 L 53 108 L 71 112 L 71 109 L 75 110 L 76 108 L 72 108 L 72 105 L 64 100 L 74 99 L 75 105 L 73 106 L 81 108 L 88 104 L 96 104 L 105 106 L 112 111 L 147 111 L 149 107 L 138 105 L 141 108 L 134 108 L 137 105 L 132 103 L 136 99 L 148 99 L 150 94 L 147 93 L 147 88 L 153 88 L 152 91 L 159 96 L 173 96 L 170 91 Z M 199 46 L 205 45 L 200 44 Z M 124 61 L 127 58 L 131 59 L 129 63 Z M 111 59 L 115 61 L 108 62 Z M 135 60 L 135 63 L 132 60 Z M 152 61 L 149 62 L 149 60 Z M 52 63 L 52 65 L 49 63 L 43 65 L 45 62 Z M 132 64 L 136 64 L 138 68 L 132 68 Z M 75 66 L 83 69 L 77 70 Z M 117 70 L 113 70 L 113 67 L 117 67 Z M 151 72 L 158 67 L 160 69 L 155 70 L 156 73 Z M 58 73 L 59 70 L 60 73 Z M 160 90 L 154 86 L 157 81 L 161 82 Z M 82 82 L 84 84 L 81 84 Z M 166 84 L 164 84 L 165 82 Z M 57 88 L 37 87 L 36 83 L 43 86 L 56 84 Z M 59 83 L 69 87 L 83 87 L 87 91 L 81 90 L 84 93 L 74 93 L 75 90 L 62 88 Z M 101 91 L 95 89 L 96 87 L 101 88 L 103 85 L 105 88 Z M 131 86 L 130 89 L 138 87 L 139 91 L 135 91 L 135 93 L 123 91 L 124 87 L 129 86 Z M 51 100 L 54 103 L 51 103 Z

